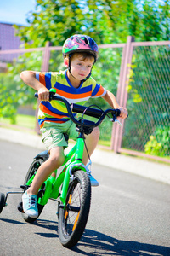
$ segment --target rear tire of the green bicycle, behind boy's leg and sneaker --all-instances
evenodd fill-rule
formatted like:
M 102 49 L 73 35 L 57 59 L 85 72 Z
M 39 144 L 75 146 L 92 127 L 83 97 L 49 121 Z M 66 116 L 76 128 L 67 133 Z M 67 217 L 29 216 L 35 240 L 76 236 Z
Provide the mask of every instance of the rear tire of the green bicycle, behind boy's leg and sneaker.
M 29 179 L 32 177 L 32 175 L 35 174 L 35 172 L 37 172 L 37 169 L 39 168 L 39 166 L 42 165 L 42 163 L 44 162 L 44 160 L 42 160 L 41 158 L 39 159 L 36 159 L 34 160 L 32 163 L 31 163 L 31 166 L 28 170 L 28 172 L 26 173 L 26 178 L 25 178 L 25 181 L 24 181 L 24 185 L 26 185 L 26 183 L 29 181 Z M 24 192 L 26 191 L 26 189 L 24 189 Z M 37 195 L 37 201 L 38 201 L 38 198 L 39 198 L 40 195 Z M 42 210 L 43 210 L 43 207 L 42 205 L 38 204 L 37 203 L 37 209 L 38 209 L 38 216 L 37 218 L 40 216 L 40 214 L 42 213 Z M 22 215 L 22 218 L 24 218 L 24 220 L 28 223 L 33 223 L 34 221 L 37 220 L 37 218 L 31 218 L 29 217 L 25 212 L 22 212 L 21 213 Z

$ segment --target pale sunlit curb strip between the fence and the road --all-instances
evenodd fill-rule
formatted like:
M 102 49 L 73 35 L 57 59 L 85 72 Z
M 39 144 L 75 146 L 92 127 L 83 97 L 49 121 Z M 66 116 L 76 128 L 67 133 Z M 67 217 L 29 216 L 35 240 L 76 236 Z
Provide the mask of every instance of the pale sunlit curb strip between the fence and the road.
M 14 131 L 0 127 L 0 140 L 39 148 L 40 152 L 45 150 L 41 136 L 23 131 Z M 95 149 L 91 159 L 94 163 L 102 166 L 108 166 L 123 172 L 130 172 L 135 175 L 170 184 L 170 166 L 168 165 L 139 159 L 138 157 L 115 154 L 110 150 L 100 148 Z

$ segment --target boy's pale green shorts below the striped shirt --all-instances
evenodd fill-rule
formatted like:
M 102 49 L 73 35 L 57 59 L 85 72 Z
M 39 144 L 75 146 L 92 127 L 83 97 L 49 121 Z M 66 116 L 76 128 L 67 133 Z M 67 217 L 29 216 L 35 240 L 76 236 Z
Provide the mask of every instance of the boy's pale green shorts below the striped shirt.
M 71 120 L 63 124 L 44 122 L 40 130 L 42 132 L 42 142 L 48 150 L 54 147 L 66 148 L 68 146 L 68 139 L 66 137 L 76 141 L 78 136 L 76 125 Z

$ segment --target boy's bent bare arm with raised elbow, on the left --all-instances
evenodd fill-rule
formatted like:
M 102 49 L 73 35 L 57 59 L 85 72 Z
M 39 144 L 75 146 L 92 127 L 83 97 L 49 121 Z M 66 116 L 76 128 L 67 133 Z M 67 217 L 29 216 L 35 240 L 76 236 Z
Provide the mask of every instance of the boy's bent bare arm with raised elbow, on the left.
M 31 86 L 31 88 L 33 88 L 34 90 L 37 90 L 38 99 L 40 101 L 48 101 L 49 91 L 42 83 L 40 83 L 36 79 L 35 71 L 29 71 L 29 70 L 23 71 L 22 73 L 20 73 L 20 78 L 23 80 L 25 84 Z

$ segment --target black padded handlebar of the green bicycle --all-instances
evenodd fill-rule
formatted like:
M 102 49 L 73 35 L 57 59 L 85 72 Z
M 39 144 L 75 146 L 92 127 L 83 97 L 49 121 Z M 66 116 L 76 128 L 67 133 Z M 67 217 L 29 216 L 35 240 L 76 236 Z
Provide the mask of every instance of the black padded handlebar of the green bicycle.
M 35 93 L 35 97 L 38 98 L 37 93 Z M 70 104 L 64 98 L 59 97 L 59 96 L 54 96 L 53 93 L 50 93 L 50 96 L 49 96 L 49 101 L 51 101 L 51 100 L 64 102 L 65 107 L 67 108 L 67 111 L 68 111 L 68 114 L 69 114 L 71 120 L 76 125 L 81 125 L 81 120 L 77 120 L 74 117 L 72 112 L 82 113 L 82 114 L 86 114 L 86 115 L 94 117 L 94 118 L 98 118 L 99 120 L 96 123 L 88 121 L 88 126 L 94 126 L 94 127 L 97 127 L 101 124 L 101 122 L 105 119 L 105 116 L 107 115 L 107 113 L 112 113 L 113 118 L 111 119 L 111 121 L 113 121 L 113 122 L 116 120 L 116 117 L 118 117 L 121 113 L 120 109 L 108 108 L 104 111 L 102 109 L 85 107 L 85 106 L 81 106 L 81 105 L 78 105 L 78 104 L 75 104 L 75 103 Z M 90 123 L 91 123 L 91 125 L 90 125 Z

